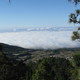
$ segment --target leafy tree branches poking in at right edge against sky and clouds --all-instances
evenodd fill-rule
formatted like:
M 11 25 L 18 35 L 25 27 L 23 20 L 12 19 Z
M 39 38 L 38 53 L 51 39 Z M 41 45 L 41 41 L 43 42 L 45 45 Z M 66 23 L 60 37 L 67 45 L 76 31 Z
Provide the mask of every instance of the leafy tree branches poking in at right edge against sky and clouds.
M 68 0 L 68 1 L 72 1 L 74 2 L 75 5 L 77 5 L 78 3 L 80 3 L 80 0 Z M 77 9 L 75 11 L 75 13 L 71 13 L 69 16 L 69 22 L 70 23 L 75 23 L 75 24 L 80 24 L 80 9 Z M 78 28 L 77 31 L 73 32 L 72 35 L 72 40 L 76 40 L 76 39 L 80 39 L 80 28 Z

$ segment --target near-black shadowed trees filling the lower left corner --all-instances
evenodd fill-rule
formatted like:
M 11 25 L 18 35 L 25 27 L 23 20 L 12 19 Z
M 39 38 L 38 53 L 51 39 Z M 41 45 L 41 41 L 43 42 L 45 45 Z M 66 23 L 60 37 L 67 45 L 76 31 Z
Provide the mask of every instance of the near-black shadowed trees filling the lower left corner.
M 6 55 L 0 54 L 0 80 L 24 80 L 26 65 L 22 61 L 15 64 Z

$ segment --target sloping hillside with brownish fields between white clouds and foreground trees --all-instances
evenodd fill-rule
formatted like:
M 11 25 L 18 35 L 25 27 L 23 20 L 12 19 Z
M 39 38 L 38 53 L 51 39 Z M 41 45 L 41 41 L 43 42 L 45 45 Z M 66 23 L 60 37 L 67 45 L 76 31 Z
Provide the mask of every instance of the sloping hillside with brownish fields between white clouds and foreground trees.
M 2 51 L 12 60 L 37 61 L 44 57 L 61 57 L 71 59 L 73 54 L 80 53 L 80 48 L 64 48 L 55 50 L 25 49 L 0 43 Z

